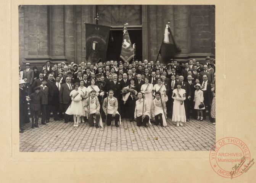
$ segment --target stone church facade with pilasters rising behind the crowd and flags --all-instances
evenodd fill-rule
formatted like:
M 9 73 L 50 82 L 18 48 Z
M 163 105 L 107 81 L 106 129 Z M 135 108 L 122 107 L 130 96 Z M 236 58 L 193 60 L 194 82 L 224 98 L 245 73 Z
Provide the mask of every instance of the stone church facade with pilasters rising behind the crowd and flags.
M 182 50 L 177 60 L 215 58 L 214 5 L 22 5 L 19 64 L 86 63 L 85 23 L 95 24 L 97 13 L 99 25 L 111 26 L 107 60 L 121 60 L 122 28 L 128 23 L 135 58 L 155 62 L 167 22 Z

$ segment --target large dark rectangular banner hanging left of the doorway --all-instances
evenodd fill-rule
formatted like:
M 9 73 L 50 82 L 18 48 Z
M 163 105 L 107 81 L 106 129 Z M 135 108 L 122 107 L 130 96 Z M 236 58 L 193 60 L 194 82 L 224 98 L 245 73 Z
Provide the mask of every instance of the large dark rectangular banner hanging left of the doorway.
M 106 61 L 109 26 L 85 24 L 86 59 L 92 64 Z

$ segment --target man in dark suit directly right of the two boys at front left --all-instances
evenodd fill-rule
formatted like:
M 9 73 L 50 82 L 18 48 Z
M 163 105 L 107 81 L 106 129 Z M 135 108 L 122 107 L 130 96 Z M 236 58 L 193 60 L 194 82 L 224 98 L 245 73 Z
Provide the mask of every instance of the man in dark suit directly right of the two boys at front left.
M 53 120 L 62 120 L 58 118 L 58 107 L 59 107 L 59 90 L 56 84 L 53 82 L 53 74 L 48 75 L 46 86 L 49 88 L 48 93 L 48 105 L 46 107 L 46 122 L 50 120 L 51 111 L 53 111 Z

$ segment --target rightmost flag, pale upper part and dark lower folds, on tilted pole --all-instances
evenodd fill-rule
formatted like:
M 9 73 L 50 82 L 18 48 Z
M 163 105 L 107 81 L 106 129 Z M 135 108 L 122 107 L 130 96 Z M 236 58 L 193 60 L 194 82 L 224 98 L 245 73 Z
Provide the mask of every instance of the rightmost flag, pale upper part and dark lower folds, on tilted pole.
M 164 39 L 159 50 L 161 62 L 167 64 L 170 59 L 173 59 L 174 56 L 180 52 L 181 50 L 174 40 L 170 26 L 166 24 L 164 29 Z

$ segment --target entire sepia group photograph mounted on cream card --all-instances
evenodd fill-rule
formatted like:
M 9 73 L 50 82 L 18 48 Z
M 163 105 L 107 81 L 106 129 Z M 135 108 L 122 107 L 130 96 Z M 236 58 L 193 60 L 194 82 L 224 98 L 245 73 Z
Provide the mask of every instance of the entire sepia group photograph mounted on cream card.
M 18 15 L 19 152 L 211 151 L 215 5 Z

